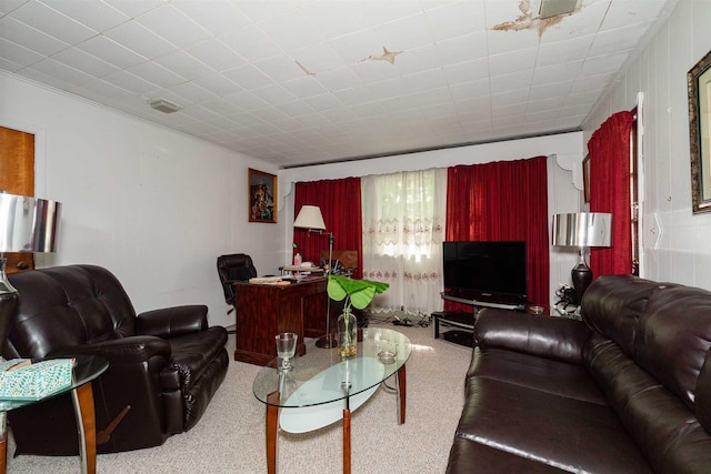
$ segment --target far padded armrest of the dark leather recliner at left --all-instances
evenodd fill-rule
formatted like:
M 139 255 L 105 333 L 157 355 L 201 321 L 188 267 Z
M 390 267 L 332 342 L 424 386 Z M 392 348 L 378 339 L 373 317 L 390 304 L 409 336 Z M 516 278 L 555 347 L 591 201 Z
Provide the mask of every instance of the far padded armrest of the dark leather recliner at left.
M 137 316 L 138 334 L 158 337 L 174 337 L 208 329 L 208 306 L 193 304 L 164 307 L 141 313 Z

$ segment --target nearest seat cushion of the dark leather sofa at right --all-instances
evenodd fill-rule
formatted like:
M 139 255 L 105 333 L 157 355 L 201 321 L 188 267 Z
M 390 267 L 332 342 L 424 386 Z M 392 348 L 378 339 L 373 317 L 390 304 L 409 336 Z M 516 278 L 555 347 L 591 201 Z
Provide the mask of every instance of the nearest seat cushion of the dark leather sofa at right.
M 610 407 L 492 379 L 469 380 L 457 436 L 567 471 L 651 472 Z

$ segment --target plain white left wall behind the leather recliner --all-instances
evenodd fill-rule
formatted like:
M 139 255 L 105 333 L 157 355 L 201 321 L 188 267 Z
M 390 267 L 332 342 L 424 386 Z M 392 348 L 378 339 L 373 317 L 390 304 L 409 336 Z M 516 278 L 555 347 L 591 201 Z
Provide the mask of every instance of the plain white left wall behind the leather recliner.
M 138 312 L 207 304 L 229 325 L 217 256 L 281 264 L 283 224 L 247 216 L 247 169 L 276 167 L 10 74 L 0 94 L 0 125 L 36 133 L 36 195 L 63 205 L 59 250 L 38 266 L 102 265 Z

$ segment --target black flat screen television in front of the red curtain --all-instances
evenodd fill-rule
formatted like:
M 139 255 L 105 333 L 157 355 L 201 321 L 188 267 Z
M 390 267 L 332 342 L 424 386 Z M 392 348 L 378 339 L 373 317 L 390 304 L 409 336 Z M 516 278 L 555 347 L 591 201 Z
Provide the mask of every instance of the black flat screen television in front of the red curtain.
M 443 242 L 445 293 L 467 300 L 520 301 L 528 296 L 525 242 Z

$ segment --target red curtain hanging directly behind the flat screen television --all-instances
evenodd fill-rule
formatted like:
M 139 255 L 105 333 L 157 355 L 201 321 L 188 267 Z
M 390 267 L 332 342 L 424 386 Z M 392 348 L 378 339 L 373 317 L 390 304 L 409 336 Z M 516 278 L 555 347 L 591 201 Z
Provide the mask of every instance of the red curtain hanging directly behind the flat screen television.
M 447 181 L 447 240 L 525 241 L 528 297 L 543 306 L 550 281 L 545 161 L 453 167 Z

